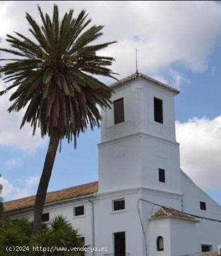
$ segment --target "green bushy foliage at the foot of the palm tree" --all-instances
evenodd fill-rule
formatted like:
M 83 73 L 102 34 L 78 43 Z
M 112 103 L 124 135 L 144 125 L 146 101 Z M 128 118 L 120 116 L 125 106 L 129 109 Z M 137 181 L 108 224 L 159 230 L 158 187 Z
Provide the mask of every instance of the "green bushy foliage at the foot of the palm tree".
M 0 228 L 0 255 L 84 255 L 82 251 L 68 251 L 72 247 L 86 246 L 83 244 L 78 232 L 62 216 L 55 217 L 47 225 L 44 224 L 41 231 L 33 236 L 31 231 L 32 222 L 26 218 L 5 221 L 2 228 Z M 7 251 L 7 246 L 8 248 L 14 246 L 18 251 Z M 57 248 L 66 248 L 66 251 L 57 250 L 55 246 Z M 32 249 L 33 247 L 35 247 L 35 250 Z M 43 252 L 43 247 L 48 250 Z M 52 251 L 50 251 L 51 248 Z

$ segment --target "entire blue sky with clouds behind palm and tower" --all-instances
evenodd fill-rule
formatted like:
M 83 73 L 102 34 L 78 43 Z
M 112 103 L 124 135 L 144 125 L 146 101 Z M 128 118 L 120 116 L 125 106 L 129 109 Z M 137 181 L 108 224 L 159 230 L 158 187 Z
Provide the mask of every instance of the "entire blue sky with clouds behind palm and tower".
M 221 204 L 221 4 L 218 1 L 1 1 L 0 38 L 12 31 L 28 35 L 26 11 L 39 20 L 37 3 L 52 13 L 86 9 L 95 24 L 104 24 L 102 41 L 117 40 L 105 54 L 114 56 L 119 79 L 138 68 L 178 88 L 177 141 L 181 167 Z M 3 56 L 3 54 L 2 54 Z M 105 81 L 110 84 L 111 80 Z M 4 88 L 0 82 L 0 90 Z M 32 195 L 43 167 L 47 139 L 19 130 L 23 113 L 7 113 L 9 95 L 0 98 L 0 183 L 4 200 Z M 98 179 L 100 131 L 88 130 L 73 144 L 62 143 L 49 191 Z

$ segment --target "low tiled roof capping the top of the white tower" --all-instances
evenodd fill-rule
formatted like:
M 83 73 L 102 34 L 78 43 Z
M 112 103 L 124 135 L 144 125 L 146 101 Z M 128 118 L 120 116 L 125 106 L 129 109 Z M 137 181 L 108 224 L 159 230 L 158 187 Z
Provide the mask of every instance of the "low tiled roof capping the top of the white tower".
M 111 84 L 110 87 L 111 87 L 111 88 L 114 88 L 114 87 L 116 87 L 116 86 L 118 86 L 118 85 L 124 84 L 124 82 L 128 82 L 128 81 L 134 80 L 134 79 L 136 79 L 137 77 L 141 77 L 141 78 L 143 78 L 143 79 L 145 79 L 145 80 L 147 80 L 147 81 L 154 82 L 155 84 L 160 85 L 160 86 L 162 86 L 162 87 L 164 87 L 164 88 L 166 88 L 166 89 L 172 90 L 175 94 L 180 93 L 180 90 L 177 90 L 177 89 L 175 89 L 175 88 L 173 88 L 173 87 L 171 87 L 171 86 L 169 86 L 169 85 L 167 85 L 167 84 L 164 84 L 164 82 L 160 82 L 160 81 L 158 81 L 158 80 L 156 80 L 156 79 L 153 79 L 152 77 L 149 77 L 149 76 L 144 75 L 144 74 L 142 74 L 142 73 L 133 73 L 132 75 L 127 76 L 127 77 L 125 77 L 125 78 L 122 79 L 122 80 L 119 80 L 119 81 L 117 81 L 117 82 L 114 82 L 114 84 Z

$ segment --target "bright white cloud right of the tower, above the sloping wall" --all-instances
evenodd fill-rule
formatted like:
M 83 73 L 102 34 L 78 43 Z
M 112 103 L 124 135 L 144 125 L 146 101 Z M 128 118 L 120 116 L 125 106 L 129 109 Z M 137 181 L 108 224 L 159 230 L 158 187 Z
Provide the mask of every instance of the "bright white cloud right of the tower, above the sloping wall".
M 220 189 L 221 115 L 176 122 L 181 168 L 204 189 Z

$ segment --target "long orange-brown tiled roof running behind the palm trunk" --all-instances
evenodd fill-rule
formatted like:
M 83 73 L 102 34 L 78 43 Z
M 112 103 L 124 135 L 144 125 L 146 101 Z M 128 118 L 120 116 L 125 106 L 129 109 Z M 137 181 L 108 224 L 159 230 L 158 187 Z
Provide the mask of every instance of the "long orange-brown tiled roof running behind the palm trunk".
M 61 189 L 59 191 L 47 193 L 45 204 L 72 199 L 74 197 L 90 195 L 98 191 L 98 181 L 78 185 L 75 187 Z M 22 210 L 34 207 L 35 196 L 28 196 L 22 199 L 7 201 L 4 203 L 4 212 L 13 212 L 15 210 Z

